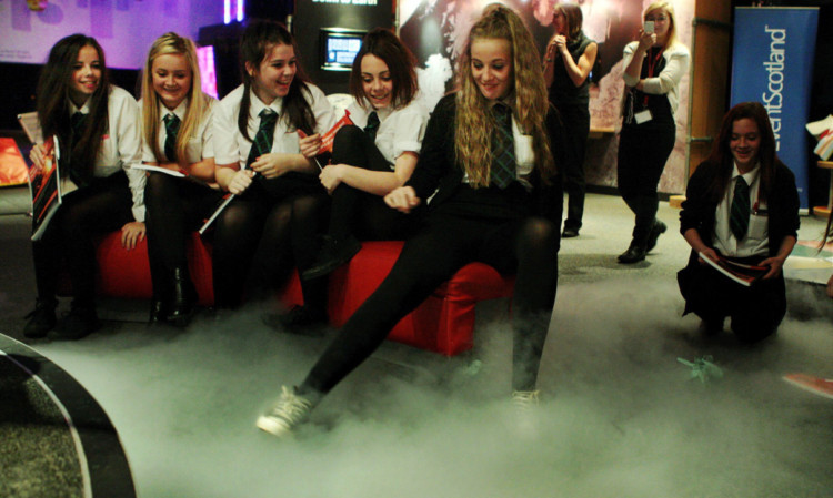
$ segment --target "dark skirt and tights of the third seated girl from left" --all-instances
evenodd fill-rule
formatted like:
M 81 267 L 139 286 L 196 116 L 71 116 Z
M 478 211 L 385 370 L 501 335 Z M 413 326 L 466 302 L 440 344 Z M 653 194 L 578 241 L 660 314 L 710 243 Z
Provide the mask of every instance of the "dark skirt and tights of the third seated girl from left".
M 311 174 L 257 177 L 217 220 L 212 266 L 214 303 L 235 308 L 265 298 L 290 275 L 312 266 L 329 207 L 327 191 Z M 327 280 L 301 283 L 304 304 L 324 307 Z

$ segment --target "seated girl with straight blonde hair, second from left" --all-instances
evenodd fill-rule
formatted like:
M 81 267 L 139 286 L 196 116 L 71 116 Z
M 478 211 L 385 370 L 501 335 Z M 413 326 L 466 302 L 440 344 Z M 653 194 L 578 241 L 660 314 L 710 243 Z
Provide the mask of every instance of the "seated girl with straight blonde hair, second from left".
M 222 195 L 214 182 L 211 125 L 215 101 L 202 92 L 197 49 L 177 33 L 150 48 L 142 78 L 142 162 L 181 172 L 148 174 L 148 256 L 153 281 L 150 323 L 188 324 L 197 292 L 188 272 L 188 233 Z

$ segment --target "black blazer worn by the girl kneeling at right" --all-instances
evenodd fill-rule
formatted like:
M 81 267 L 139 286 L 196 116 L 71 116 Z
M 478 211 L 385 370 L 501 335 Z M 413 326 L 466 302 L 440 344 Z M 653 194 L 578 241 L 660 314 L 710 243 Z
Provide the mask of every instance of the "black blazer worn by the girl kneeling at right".
M 680 233 L 685 234 L 689 228 L 695 228 L 700 238 L 709 247 L 713 247 L 714 224 L 717 202 L 709 201 L 709 185 L 720 172 L 720 165 L 704 162 L 697 166 L 689 179 L 685 189 L 685 201 L 680 212 Z M 777 254 L 781 243 L 786 236 L 799 236 L 799 191 L 795 187 L 795 175 L 781 163 L 775 164 L 775 174 L 771 192 L 766 195 L 769 214 L 770 256 Z M 691 260 L 697 255 L 692 251 Z

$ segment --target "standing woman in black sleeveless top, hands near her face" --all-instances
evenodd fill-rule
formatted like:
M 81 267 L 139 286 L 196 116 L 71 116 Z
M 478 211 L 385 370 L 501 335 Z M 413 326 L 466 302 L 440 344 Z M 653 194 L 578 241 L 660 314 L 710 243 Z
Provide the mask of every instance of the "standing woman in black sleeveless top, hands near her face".
M 552 13 L 555 30 L 544 55 L 544 81 L 550 102 L 564 122 L 564 193 L 569 195 L 563 237 L 575 237 L 584 214 L 584 151 L 590 133 L 590 71 L 599 45 L 581 30 L 583 16 L 575 3 L 559 3 Z

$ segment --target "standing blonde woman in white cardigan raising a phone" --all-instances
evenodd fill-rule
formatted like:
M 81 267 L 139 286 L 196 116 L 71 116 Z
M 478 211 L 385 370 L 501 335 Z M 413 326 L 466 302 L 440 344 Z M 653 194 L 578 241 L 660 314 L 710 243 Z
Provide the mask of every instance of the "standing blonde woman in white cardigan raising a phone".
M 656 187 L 676 142 L 674 112 L 690 60 L 689 49 L 678 40 L 670 2 L 651 3 L 642 19 L 640 39 L 625 47 L 622 59 L 625 95 L 616 181 L 635 217 L 631 244 L 619 255 L 623 264 L 643 261 L 668 228 L 656 220 Z

